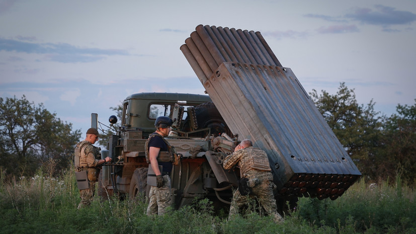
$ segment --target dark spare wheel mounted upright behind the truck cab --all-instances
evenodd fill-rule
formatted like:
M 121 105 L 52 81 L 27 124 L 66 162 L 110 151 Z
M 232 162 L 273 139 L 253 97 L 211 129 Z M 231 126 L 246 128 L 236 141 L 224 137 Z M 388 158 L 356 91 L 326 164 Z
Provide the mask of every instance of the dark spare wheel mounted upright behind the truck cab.
M 218 136 L 219 134 L 225 132 L 228 135 L 232 135 L 230 129 L 228 128 L 227 124 L 225 123 L 224 119 L 221 117 L 218 109 L 215 107 L 213 102 L 206 102 L 199 106 L 195 107 L 195 115 L 198 122 L 198 129 L 203 128 L 210 128 L 211 134 Z M 182 128 L 183 131 L 190 131 L 190 123 L 189 117 L 185 119 L 184 127 Z M 204 132 L 200 132 L 197 136 L 205 136 Z M 195 136 L 195 135 L 194 135 Z

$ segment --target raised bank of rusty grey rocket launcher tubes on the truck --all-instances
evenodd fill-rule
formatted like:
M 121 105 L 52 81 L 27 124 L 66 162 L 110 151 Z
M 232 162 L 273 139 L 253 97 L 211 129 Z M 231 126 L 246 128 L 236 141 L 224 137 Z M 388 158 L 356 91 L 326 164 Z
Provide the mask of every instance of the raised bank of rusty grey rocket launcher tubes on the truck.
M 264 149 L 279 196 L 341 196 L 361 173 L 260 32 L 196 27 L 181 51 L 240 139 Z

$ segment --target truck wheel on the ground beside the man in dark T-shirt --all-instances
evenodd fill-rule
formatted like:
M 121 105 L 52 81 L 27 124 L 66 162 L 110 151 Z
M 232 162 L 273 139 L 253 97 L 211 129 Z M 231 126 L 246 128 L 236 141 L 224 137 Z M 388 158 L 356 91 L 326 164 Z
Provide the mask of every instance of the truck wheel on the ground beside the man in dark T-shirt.
M 149 197 L 150 186 L 147 186 L 147 168 L 137 168 L 134 170 L 130 182 L 130 199 L 136 199 L 145 202 Z

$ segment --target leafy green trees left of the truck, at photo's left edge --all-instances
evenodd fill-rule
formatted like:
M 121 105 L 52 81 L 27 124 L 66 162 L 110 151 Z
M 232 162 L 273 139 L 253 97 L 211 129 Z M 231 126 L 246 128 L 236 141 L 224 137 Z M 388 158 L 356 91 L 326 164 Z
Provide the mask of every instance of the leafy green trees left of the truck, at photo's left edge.
M 56 172 L 68 167 L 80 130 L 62 122 L 43 104 L 0 98 L 0 161 L 8 174 L 31 176 L 48 159 L 56 160 Z

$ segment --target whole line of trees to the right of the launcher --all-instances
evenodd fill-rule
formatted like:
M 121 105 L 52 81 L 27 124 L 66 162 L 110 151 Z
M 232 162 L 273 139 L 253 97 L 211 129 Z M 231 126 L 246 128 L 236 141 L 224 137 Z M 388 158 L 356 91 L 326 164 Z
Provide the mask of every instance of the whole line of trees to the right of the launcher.
M 358 104 L 345 83 L 334 95 L 312 90 L 309 96 L 366 181 L 394 181 L 399 175 L 416 184 L 416 99 L 386 116 L 374 110 L 373 100 Z

